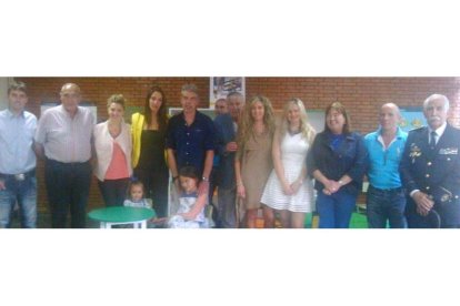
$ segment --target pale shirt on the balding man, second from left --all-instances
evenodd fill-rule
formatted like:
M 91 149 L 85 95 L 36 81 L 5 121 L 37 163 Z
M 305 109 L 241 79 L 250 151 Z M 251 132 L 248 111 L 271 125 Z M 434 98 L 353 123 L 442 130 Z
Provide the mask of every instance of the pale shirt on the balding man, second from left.
M 36 142 L 44 155 L 61 163 L 83 163 L 91 159 L 94 118 L 90 110 L 78 108 L 73 119 L 62 105 L 47 110 L 39 120 Z

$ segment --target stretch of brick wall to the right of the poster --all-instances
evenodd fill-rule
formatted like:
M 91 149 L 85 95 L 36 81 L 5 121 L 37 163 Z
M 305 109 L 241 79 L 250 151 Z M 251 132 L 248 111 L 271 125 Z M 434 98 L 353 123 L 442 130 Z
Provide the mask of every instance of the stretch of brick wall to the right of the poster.
M 342 102 L 354 130 L 377 128 L 379 105 L 421 106 L 432 93 L 451 101 L 450 121 L 460 128 L 460 78 L 248 78 L 247 94 L 264 94 L 281 108 L 290 98 L 300 98 L 308 109 L 324 109 Z

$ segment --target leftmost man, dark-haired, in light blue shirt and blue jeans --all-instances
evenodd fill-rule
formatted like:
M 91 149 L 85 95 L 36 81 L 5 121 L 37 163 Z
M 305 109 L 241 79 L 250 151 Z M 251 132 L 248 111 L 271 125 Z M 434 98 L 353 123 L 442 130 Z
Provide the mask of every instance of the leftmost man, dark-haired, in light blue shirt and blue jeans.
M 27 88 L 14 82 L 8 89 L 7 110 L 0 112 L 0 228 L 11 226 L 16 203 L 21 226 L 37 227 L 37 157 L 32 150 L 37 118 L 24 111 Z

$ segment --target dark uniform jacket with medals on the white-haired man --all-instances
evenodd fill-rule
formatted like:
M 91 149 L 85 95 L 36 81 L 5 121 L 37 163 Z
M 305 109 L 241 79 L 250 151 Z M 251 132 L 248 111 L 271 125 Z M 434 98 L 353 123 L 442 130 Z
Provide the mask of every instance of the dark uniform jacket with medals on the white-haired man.
M 428 133 L 427 126 L 410 131 L 401 160 L 408 218 L 417 214 L 409 195 L 420 190 L 432 196 L 442 226 L 460 225 L 460 130 L 448 124 L 434 150 L 429 147 Z

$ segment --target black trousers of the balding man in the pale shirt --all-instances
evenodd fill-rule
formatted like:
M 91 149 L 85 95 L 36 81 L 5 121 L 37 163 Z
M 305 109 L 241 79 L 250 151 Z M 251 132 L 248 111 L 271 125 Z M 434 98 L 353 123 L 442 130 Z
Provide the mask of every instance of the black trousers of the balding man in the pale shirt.
M 47 160 L 44 183 L 51 208 L 53 228 L 67 227 L 67 215 L 70 211 L 70 226 L 84 228 L 87 204 L 91 185 L 91 164 L 61 163 Z

